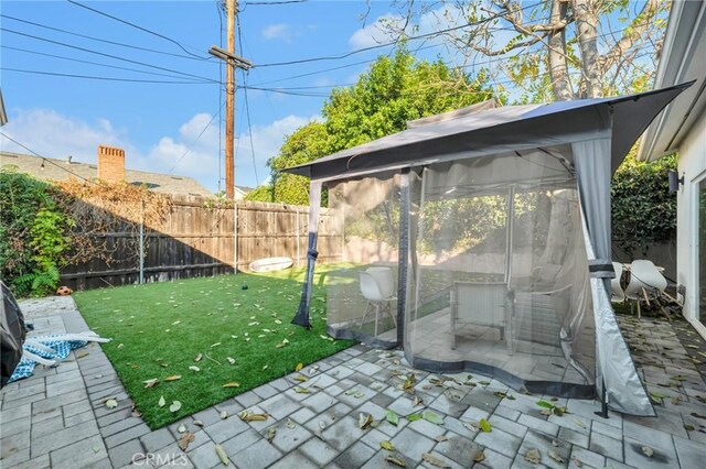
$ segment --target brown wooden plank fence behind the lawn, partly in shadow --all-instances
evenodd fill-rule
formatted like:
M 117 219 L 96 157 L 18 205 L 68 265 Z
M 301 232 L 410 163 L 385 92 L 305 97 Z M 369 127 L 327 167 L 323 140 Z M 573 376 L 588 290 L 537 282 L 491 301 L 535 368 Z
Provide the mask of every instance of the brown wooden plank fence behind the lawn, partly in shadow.
M 237 229 L 235 227 L 237 220 Z M 103 286 L 247 271 L 256 259 L 287 257 L 306 265 L 309 207 L 238 201 L 234 208 L 208 208 L 197 196 L 173 196 L 160 230 L 141 227 L 92 236 L 105 240 L 111 261 L 92 259 L 62 271 L 62 284 L 87 290 Z M 342 219 L 321 209 L 319 259 L 342 259 Z M 140 243 L 142 240 L 142 243 Z M 140 257 L 140 249 L 142 255 Z M 140 258 L 142 262 L 140 262 Z M 236 261 L 237 259 L 237 261 Z

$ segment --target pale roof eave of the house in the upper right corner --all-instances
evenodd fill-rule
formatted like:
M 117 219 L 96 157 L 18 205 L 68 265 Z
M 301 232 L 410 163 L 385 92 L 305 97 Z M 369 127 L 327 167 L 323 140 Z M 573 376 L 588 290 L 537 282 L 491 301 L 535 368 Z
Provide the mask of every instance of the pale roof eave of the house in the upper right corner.
M 706 2 L 674 1 L 654 88 L 696 83 L 659 116 L 642 137 L 638 160 L 673 153 L 706 110 Z

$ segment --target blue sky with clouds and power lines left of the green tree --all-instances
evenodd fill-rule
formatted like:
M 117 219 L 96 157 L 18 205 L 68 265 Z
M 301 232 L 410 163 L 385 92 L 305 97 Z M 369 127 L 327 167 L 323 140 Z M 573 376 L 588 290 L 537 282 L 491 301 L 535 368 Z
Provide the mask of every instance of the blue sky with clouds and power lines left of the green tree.
M 367 11 L 367 6 L 362 1 L 309 1 L 280 6 L 240 3 L 243 48 L 237 45 L 236 48 L 256 65 L 340 55 L 375 44 L 370 23 L 389 13 L 391 7 L 388 2 L 373 2 L 367 15 L 368 28 L 364 29 L 361 17 Z M 186 52 L 173 42 L 66 1 L 3 1 L 3 17 L 0 18 L 1 84 L 10 122 L 2 131 L 44 156 L 64 159 L 71 154 L 74 160 L 83 162 L 95 162 L 98 144 L 122 146 L 127 151 L 128 168 L 190 175 L 211 190 L 223 188 L 223 182 L 220 182 L 223 163 L 218 157 L 223 140 L 218 138 L 218 121 L 225 119 L 225 110 L 217 114 L 223 103 L 217 84 L 222 70 L 218 61 L 206 53 L 212 44 L 220 45 L 225 41 L 220 32 L 221 17 L 216 2 L 108 1 L 83 4 L 168 36 Z M 105 41 L 150 48 L 157 53 Z M 247 79 L 247 84 L 254 87 L 306 87 L 284 91 L 315 96 L 248 91 L 254 156 L 244 94 L 238 90 L 236 184 L 255 186 L 261 183 L 268 175 L 267 159 L 276 154 L 286 134 L 319 114 L 324 100 L 322 96 L 328 95 L 330 86 L 354 83 L 367 66 L 360 62 L 371 61 L 385 52 L 388 50 L 355 54 L 345 59 L 261 66 L 252 69 L 247 77 L 238 73 L 238 85 Z M 115 81 L 18 70 L 195 83 Z M 304 74 L 311 75 L 290 78 Z M 212 118 L 212 124 L 207 126 Z M 4 139 L 2 148 L 25 152 Z

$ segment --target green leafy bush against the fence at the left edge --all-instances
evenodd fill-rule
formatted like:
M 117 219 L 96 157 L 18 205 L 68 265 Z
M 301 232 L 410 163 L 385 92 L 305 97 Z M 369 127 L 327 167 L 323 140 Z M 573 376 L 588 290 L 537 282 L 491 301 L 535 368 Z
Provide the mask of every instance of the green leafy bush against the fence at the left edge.
M 52 186 L 26 174 L 0 172 L 0 268 L 15 295 L 56 290 L 73 226 Z

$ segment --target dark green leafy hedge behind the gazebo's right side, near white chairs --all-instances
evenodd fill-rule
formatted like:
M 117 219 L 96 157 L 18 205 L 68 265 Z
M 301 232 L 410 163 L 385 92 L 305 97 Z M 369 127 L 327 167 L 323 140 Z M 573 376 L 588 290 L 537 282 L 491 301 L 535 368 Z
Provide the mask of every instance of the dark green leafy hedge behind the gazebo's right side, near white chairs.
M 670 193 L 668 170 L 676 170 L 676 155 L 654 163 L 629 155 L 613 176 L 613 242 L 630 257 L 676 236 L 676 197 Z

